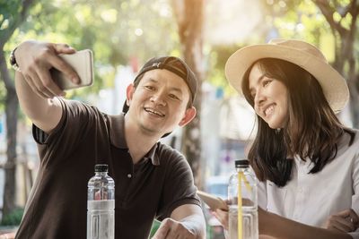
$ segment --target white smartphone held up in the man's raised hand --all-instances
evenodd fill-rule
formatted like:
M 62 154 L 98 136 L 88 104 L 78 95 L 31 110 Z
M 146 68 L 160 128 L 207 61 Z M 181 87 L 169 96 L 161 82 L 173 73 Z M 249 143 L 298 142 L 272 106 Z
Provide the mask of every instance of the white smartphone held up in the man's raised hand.
M 61 90 L 71 90 L 92 85 L 93 58 L 92 51 L 90 49 L 77 51 L 74 54 L 61 54 L 58 56 L 63 58 L 67 64 L 70 64 L 74 68 L 74 71 L 79 75 L 81 81 L 79 84 L 75 84 L 67 78 L 65 73 L 52 68 L 50 70 L 51 77 Z

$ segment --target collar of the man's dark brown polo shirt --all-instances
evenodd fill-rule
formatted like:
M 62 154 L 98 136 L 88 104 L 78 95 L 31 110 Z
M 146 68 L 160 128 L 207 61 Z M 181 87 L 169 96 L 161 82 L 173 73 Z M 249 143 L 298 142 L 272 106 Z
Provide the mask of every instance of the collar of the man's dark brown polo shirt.
M 109 115 L 109 141 L 113 146 L 118 149 L 128 149 L 125 139 L 125 114 Z M 160 165 L 160 158 L 156 154 L 156 149 L 159 142 L 153 145 L 153 147 L 144 156 L 144 159 L 151 159 L 154 166 Z

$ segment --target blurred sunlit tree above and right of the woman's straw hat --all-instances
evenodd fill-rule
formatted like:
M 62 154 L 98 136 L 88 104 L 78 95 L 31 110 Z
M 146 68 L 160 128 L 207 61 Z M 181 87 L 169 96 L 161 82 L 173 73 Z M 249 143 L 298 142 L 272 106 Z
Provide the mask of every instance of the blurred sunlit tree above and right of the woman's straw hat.
M 347 80 L 350 112 L 359 128 L 359 3 L 357 0 L 271 0 L 269 22 L 282 38 L 304 38 L 321 47 Z

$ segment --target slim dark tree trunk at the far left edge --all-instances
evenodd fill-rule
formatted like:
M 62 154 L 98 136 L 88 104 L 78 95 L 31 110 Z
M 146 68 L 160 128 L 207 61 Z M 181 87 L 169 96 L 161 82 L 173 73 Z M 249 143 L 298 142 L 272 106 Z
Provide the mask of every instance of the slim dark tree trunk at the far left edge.
M 4 184 L 4 206 L 3 215 L 10 213 L 15 207 L 15 189 L 16 189 L 16 132 L 17 132 L 17 114 L 19 101 L 10 75 L 6 67 L 4 51 L 0 51 L 0 72 L 5 83 L 6 99 L 6 164 L 4 166 L 5 184 Z

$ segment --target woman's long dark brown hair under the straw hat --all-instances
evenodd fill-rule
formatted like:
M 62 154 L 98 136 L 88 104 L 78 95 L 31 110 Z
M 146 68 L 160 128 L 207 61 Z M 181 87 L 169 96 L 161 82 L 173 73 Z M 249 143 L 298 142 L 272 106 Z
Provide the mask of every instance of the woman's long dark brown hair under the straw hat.
M 262 73 L 285 84 L 288 90 L 288 120 L 284 129 L 276 131 L 257 115 L 258 132 L 251 145 L 249 159 L 260 181 L 270 180 L 285 186 L 292 174 L 293 158 L 310 158 L 310 174 L 320 172 L 336 158 L 337 143 L 344 132 L 351 141 L 355 133 L 347 130 L 329 107 L 323 91 L 311 73 L 300 66 L 275 58 L 263 58 L 256 63 Z M 252 64 L 243 76 L 241 89 L 254 107 L 250 95 L 249 75 Z

